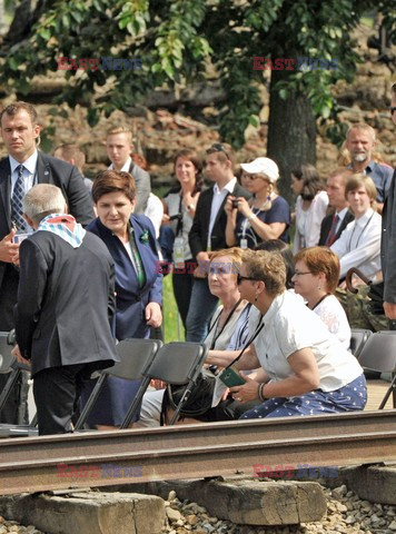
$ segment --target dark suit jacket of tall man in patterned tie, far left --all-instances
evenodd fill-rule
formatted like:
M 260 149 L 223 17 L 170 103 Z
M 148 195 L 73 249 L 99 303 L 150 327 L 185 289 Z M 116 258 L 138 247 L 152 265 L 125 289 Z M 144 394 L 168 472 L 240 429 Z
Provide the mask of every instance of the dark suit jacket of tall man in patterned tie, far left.
M 38 152 L 37 182 L 52 184 L 60 187 L 68 202 L 69 212 L 78 222 L 86 226 L 95 218 L 92 200 L 77 168 L 61 159 Z M 0 239 L 11 231 L 11 168 L 9 158 L 0 161 Z M 0 306 L 13 306 L 3 301 L 2 285 L 7 284 L 7 270 L 13 268 L 10 264 L 0 261 Z M 0 329 L 4 329 L 0 325 Z

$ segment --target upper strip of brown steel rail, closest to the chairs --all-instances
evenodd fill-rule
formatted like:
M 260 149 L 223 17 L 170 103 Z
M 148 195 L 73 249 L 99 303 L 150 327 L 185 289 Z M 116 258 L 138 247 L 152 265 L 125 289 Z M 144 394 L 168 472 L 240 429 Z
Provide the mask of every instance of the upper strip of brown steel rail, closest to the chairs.
M 260 439 L 295 439 L 298 437 L 339 436 L 352 433 L 388 432 L 396 428 L 396 409 L 358 412 L 306 417 L 234 421 L 174 427 L 136 428 L 128 431 L 87 432 L 69 435 L 0 439 L 0 462 L 26 458 L 71 458 L 95 456 L 110 451 L 161 451 L 175 444 L 194 447 L 215 446 Z

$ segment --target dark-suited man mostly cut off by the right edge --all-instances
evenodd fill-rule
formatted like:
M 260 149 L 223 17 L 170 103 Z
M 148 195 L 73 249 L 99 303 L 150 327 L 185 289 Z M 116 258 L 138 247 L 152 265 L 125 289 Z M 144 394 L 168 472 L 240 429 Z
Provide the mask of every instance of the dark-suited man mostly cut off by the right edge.
M 392 86 L 390 115 L 396 125 L 396 83 Z M 384 204 L 380 260 L 384 275 L 384 310 L 388 319 L 396 319 L 396 170 Z

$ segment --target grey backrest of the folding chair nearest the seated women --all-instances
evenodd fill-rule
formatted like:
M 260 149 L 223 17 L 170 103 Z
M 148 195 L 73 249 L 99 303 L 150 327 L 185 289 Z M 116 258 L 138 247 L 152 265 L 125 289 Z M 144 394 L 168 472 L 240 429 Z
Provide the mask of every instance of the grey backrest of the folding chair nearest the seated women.
M 168 343 L 158 350 L 147 376 L 168 384 L 186 384 L 198 375 L 206 354 L 200 343 Z

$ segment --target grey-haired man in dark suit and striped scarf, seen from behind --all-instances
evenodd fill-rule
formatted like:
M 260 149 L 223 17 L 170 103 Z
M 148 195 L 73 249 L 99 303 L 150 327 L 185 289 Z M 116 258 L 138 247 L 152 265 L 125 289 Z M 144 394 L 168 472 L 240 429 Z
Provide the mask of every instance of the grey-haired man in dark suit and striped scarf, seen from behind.
M 23 214 L 38 231 L 20 246 L 13 354 L 31 364 L 39 434 L 62 434 L 71 432 L 85 380 L 119 359 L 110 328 L 115 265 L 106 245 L 67 215 L 58 187 L 33 186 Z

